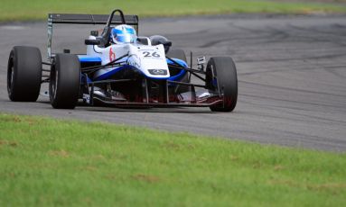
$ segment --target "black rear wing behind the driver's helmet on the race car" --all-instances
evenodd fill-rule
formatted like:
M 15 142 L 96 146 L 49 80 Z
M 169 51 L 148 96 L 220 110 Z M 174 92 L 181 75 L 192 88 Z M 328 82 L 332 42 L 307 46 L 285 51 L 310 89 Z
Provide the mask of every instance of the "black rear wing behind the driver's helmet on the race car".
M 111 15 L 108 14 L 48 14 L 48 58 L 51 59 L 51 38 L 53 31 L 53 24 L 105 24 Z M 126 24 L 133 26 L 138 33 L 138 16 L 137 15 L 124 15 Z M 111 20 L 111 25 L 122 24 L 120 15 L 114 15 Z

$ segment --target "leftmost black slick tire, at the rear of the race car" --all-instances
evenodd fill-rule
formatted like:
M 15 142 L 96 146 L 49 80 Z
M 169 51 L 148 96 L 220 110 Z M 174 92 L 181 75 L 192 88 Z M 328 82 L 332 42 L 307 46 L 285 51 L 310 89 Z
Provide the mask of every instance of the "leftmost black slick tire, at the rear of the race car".
M 7 92 L 13 102 L 35 102 L 40 94 L 42 57 L 40 49 L 15 46 L 7 65 Z

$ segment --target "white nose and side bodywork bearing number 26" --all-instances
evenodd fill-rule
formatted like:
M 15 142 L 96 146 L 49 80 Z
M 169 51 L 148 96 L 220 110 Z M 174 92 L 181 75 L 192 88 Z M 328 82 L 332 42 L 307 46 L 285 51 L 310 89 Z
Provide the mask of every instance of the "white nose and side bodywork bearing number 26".
M 95 40 L 94 36 L 89 36 L 89 40 Z M 133 69 L 140 70 L 145 76 L 152 78 L 168 78 L 170 76 L 167 66 L 164 46 L 162 44 L 152 46 L 124 43 L 124 44 L 112 44 L 107 48 L 100 48 L 97 45 L 89 45 L 87 47 L 87 57 L 99 57 L 102 60 L 102 65 L 127 55 L 125 58 L 117 60 L 117 63 L 123 63 L 124 65 L 130 65 L 135 67 Z M 109 67 L 98 70 L 94 78 L 102 76 L 118 67 Z M 149 71 L 153 71 L 150 73 Z

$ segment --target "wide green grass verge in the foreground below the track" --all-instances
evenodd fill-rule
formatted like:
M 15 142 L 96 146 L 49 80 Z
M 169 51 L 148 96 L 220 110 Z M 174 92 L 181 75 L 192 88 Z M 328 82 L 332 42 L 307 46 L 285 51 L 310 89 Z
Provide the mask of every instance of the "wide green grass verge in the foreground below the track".
M 0 206 L 344 206 L 346 155 L 0 113 Z

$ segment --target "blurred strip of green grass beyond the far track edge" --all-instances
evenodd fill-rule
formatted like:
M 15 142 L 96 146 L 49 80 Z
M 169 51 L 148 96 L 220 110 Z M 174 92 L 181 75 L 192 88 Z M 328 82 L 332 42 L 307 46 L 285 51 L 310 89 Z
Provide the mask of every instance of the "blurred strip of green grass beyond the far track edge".
M 2 0 L 0 21 L 45 20 L 48 13 L 109 14 L 121 8 L 126 14 L 172 16 L 193 14 L 274 13 L 310 14 L 346 13 L 346 6 L 323 3 L 290 3 L 269 0 Z

